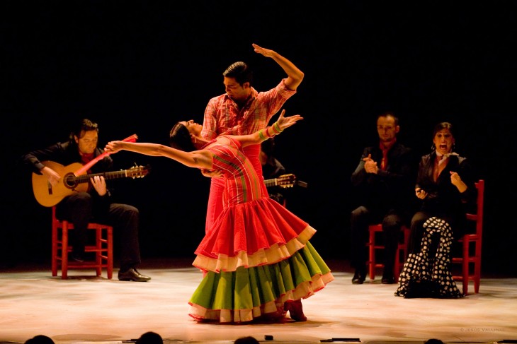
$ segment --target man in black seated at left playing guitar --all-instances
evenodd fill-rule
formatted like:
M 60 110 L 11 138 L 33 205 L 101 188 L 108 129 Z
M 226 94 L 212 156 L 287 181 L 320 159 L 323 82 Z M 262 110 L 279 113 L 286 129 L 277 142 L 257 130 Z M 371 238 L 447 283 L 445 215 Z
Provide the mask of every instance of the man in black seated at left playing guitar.
M 56 186 L 62 182 L 62 175 L 45 162 L 55 162 L 64 166 L 81 163 L 86 164 L 103 154 L 97 147 L 98 124 L 89 119 L 82 119 L 69 136 L 69 141 L 55 143 L 42 150 L 33 150 L 22 157 L 23 162 L 36 174 L 47 177 L 48 183 Z M 49 164 L 52 165 L 52 164 Z M 55 164 L 54 164 L 55 165 Z M 113 169 L 113 160 L 109 155 L 91 166 L 88 173 L 109 172 Z M 120 237 L 120 270 L 119 280 L 147 282 L 151 278 L 137 271 L 140 264 L 140 244 L 138 241 L 139 212 L 134 206 L 113 203 L 110 191 L 103 176 L 90 178 L 87 191 L 65 196 L 56 206 L 59 220 L 68 220 L 74 224 L 71 237 L 74 261 L 84 261 L 86 244 L 86 227 L 89 222 L 113 225 L 115 233 Z

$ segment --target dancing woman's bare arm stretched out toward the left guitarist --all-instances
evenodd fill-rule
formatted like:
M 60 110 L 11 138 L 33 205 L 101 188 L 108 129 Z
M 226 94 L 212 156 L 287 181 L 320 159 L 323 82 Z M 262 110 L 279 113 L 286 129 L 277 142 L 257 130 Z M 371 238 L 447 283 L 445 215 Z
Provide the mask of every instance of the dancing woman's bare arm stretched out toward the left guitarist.
M 159 143 L 137 143 L 125 141 L 110 141 L 106 144 L 104 150 L 108 153 L 117 153 L 120 150 L 128 150 L 130 152 L 140 153 L 144 155 L 162 156 L 181 162 L 188 167 L 196 167 L 203 169 L 212 168 L 212 154 L 208 150 L 194 150 L 193 152 L 184 152 Z

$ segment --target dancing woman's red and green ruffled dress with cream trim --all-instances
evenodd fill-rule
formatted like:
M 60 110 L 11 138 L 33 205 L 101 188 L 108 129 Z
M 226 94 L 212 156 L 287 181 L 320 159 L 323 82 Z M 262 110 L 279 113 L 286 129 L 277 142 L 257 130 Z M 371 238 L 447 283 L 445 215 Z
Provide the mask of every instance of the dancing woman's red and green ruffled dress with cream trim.
M 189 315 L 241 323 L 281 319 L 284 303 L 307 298 L 334 276 L 309 239 L 316 230 L 263 193 L 239 141 L 206 148 L 223 171 L 224 209 L 195 250 L 204 272 Z M 210 143 L 209 143 L 210 145 Z

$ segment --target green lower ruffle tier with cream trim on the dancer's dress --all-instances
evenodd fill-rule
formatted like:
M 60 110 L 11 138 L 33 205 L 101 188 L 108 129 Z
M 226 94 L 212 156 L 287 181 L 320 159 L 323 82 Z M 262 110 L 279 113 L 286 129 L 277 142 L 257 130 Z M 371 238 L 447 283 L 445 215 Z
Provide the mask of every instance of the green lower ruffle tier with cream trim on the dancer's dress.
M 312 296 L 332 280 L 330 269 L 307 242 L 278 263 L 208 271 L 188 302 L 189 315 L 220 323 L 278 319 L 285 314 L 285 302 Z

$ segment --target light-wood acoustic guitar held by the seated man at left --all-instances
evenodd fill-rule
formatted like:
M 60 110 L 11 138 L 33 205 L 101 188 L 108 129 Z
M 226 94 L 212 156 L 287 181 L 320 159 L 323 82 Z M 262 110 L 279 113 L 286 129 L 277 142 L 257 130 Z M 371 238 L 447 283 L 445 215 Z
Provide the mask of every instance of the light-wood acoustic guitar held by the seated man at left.
M 53 161 L 42 161 L 42 164 L 55 170 L 62 176 L 55 186 L 52 186 L 42 174 L 33 173 L 33 192 L 36 201 L 45 207 L 52 207 L 59 203 L 64 197 L 75 192 L 87 191 L 91 177 L 103 176 L 106 180 L 116 178 L 142 178 L 149 173 L 149 167 L 134 166 L 129 170 L 103 172 L 95 174 L 81 174 L 76 176 L 75 171 L 83 165 L 74 162 L 68 166 Z

